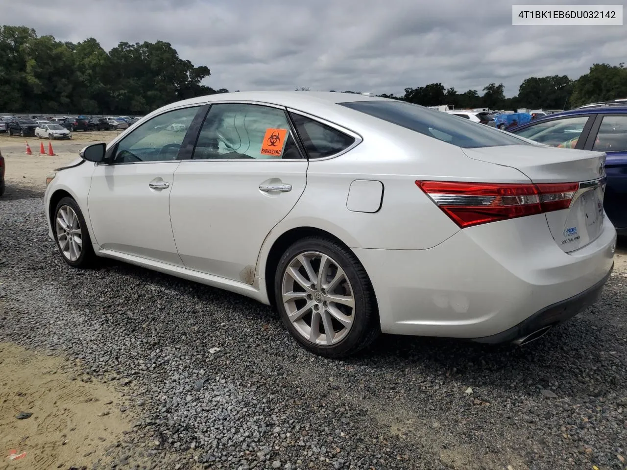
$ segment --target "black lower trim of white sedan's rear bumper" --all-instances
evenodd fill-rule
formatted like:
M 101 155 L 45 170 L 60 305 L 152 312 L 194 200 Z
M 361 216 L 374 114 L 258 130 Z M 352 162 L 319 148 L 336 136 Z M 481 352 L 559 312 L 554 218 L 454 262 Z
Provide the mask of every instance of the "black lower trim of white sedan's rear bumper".
M 593 305 L 601 296 L 603 286 L 609 279 L 609 275 L 614 269 L 614 265 L 609 270 L 601 281 L 596 283 L 591 288 L 543 308 L 540 311 L 534 313 L 534 315 L 527 318 L 527 320 L 521 321 L 518 325 L 512 326 L 504 332 L 497 333 L 496 335 L 473 338 L 473 341 L 478 343 L 507 343 L 515 342 L 522 338 L 529 337 L 534 332 L 543 330 L 549 326 L 555 326 L 559 323 L 564 323 L 566 320 L 570 320 L 573 316 L 576 316 L 581 311 L 586 310 L 589 306 Z

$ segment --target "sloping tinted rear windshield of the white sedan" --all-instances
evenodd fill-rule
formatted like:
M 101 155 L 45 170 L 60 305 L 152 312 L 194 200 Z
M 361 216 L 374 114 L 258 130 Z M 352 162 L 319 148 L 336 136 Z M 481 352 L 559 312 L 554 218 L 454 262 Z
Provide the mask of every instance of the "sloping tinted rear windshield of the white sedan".
M 339 104 L 464 149 L 531 145 L 495 128 L 412 103 L 377 100 Z

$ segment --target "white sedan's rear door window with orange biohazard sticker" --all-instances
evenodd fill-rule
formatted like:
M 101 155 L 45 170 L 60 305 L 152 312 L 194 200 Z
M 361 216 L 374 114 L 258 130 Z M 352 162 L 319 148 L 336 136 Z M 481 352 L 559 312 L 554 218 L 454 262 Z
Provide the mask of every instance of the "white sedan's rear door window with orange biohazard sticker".
M 212 105 L 196 142 L 195 160 L 302 159 L 285 111 L 263 105 Z

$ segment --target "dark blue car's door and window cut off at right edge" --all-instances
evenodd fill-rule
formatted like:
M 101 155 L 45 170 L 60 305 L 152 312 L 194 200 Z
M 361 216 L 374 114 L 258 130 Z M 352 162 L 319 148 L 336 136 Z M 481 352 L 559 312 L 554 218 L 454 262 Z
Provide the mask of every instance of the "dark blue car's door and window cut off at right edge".
M 603 206 L 614 226 L 627 232 L 627 113 L 599 113 L 584 149 L 608 155 Z

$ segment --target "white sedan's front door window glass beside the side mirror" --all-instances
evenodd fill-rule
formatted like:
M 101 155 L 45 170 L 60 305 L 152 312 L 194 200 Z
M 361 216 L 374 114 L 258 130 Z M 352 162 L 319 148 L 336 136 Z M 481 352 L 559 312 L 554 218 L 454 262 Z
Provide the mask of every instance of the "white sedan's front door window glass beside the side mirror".
M 112 164 L 176 160 L 199 108 L 169 111 L 135 128 L 117 144 Z

